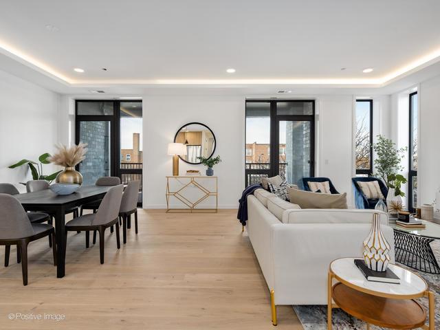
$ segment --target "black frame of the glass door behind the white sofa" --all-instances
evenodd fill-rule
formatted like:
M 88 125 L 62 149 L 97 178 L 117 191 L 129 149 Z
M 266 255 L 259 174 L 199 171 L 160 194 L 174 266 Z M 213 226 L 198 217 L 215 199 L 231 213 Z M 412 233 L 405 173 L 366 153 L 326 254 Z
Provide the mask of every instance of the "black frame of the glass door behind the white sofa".
M 246 166 L 250 163 L 246 163 L 245 159 L 245 187 L 248 184 L 248 176 L 252 174 L 259 175 L 267 175 L 268 177 L 274 177 L 279 174 L 280 166 L 279 166 L 279 157 L 280 157 L 280 148 L 279 148 L 279 122 L 280 121 L 308 121 L 311 122 L 310 129 L 310 176 L 314 177 L 315 175 L 315 115 L 316 115 L 316 102 L 315 100 L 253 100 L 249 99 L 245 101 L 245 104 L 248 103 L 269 103 L 270 104 L 270 169 L 248 169 Z M 312 114 L 311 115 L 277 115 L 276 113 L 276 104 L 280 102 L 310 102 L 312 105 Z M 246 105 L 245 105 L 246 111 Z M 246 118 L 246 113 L 245 113 Z M 246 120 L 245 120 L 245 134 L 246 134 Z M 245 152 L 246 152 L 246 141 L 245 141 Z

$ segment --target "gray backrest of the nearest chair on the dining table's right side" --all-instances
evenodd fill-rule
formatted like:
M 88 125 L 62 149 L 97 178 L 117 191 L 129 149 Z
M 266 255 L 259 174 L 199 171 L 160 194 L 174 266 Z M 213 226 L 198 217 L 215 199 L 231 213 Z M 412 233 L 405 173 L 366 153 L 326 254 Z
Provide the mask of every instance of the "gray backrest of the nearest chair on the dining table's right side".
M 109 191 L 107 191 L 107 194 L 105 194 L 100 203 L 98 211 L 96 212 L 96 216 L 93 221 L 94 225 L 105 225 L 114 219 L 118 219 L 122 199 L 122 190 L 124 190 L 124 186 L 120 184 L 110 188 Z

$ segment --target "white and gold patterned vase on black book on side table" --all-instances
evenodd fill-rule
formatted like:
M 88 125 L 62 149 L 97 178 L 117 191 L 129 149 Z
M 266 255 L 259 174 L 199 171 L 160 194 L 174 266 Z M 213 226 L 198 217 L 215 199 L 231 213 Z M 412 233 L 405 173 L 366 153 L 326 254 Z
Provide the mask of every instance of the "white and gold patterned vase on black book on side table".
M 380 228 L 379 213 L 373 214 L 371 231 L 364 241 L 364 261 L 375 272 L 385 272 L 390 263 L 390 245 Z

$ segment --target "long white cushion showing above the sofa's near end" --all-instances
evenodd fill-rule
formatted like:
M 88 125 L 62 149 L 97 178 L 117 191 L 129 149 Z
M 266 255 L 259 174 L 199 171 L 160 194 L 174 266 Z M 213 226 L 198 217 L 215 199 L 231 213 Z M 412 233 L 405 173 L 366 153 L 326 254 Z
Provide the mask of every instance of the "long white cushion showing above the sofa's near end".
M 380 213 L 382 225 L 388 224 L 388 214 L 378 210 L 358 209 L 308 209 L 287 210 L 283 213 L 283 223 L 371 223 L 373 214 Z

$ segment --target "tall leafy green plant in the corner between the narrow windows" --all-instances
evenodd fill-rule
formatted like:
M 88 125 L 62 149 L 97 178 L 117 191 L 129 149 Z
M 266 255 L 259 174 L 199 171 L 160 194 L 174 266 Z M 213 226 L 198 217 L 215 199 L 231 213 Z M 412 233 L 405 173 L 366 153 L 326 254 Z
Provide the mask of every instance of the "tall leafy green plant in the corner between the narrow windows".
M 395 189 L 395 196 L 404 197 L 405 193 L 400 188 L 401 184 L 406 184 L 406 178 L 396 173 L 403 170 L 400 163 L 407 148 L 397 149 L 393 141 L 377 135 L 377 142 L 373 144 L 373 149 L 377 156 L 374 159 L 375 175 L 381 177 L 388 188 Z

